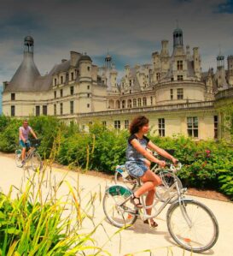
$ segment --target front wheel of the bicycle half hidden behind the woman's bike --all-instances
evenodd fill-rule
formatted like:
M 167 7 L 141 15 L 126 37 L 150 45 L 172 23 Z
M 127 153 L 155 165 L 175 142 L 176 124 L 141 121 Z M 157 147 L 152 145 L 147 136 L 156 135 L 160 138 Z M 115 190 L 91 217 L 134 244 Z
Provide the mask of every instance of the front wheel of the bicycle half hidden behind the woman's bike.
M 170 170 L 163 170 L 163 171 L 160 171 L 158 176 L 160 176 L 162 184 L 156 187 L 156 190 L 155 190 L 156 197 L 160 199 L 161 202 L 165 202 L 166 199 L 172 197 L 171 201 L 169 202 L 170 204 L 172 204 L 174 201 L 178 199 L 177 188 L 176 186 L 173 186 L 172 191 L 167 191 L 167 190 L 168 188 L 171 188 L 172 185 L 174 184 L 174 181 L 175 181 L 174 175 L 171 173 Z M 182 189 L 183 185 L 180 179 L 178 178 L 178 176 L 176 176 L 176 179 L 178 181 L 179 189 Z

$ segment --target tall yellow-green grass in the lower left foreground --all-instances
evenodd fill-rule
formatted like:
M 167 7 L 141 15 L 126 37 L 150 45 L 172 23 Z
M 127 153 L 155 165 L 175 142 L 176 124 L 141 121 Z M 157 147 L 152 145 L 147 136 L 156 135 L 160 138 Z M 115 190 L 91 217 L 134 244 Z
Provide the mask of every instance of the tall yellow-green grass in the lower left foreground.
M 74 188 L 66 175 L 61 181 L 51 175 L 59 146 L 58 135 L 43 170 L 25 173 L 20 188 L 0 193 L 0 255 L 109 255 L 92 238 L 101 223 L 93 223 L 88 233 L 80 231 L 84 219 L 95 213 L 96 193 L 81 205 L 79 178 Z M 65 194 L 61 187 L 67 188 Z

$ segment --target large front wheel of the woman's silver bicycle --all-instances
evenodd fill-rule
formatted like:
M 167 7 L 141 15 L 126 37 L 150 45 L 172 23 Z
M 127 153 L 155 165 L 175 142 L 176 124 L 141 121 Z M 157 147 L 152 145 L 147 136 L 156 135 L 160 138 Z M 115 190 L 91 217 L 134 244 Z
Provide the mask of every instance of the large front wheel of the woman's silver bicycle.
M 206 205 L 192 199 L 174 203 L 166 213 L 167 228 L 181 247 L 204 252 L 218 240 L 218 222 Z

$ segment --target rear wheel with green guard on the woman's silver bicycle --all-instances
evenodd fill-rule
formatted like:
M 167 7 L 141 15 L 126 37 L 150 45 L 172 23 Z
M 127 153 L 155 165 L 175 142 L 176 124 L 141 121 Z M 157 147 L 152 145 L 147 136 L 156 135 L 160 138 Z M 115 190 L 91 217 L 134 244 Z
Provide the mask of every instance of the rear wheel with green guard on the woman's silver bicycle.
M 112 188 L 115 192 L 109 193 L 109 189 L 111 190 Z M 103 211 L 108 218 L 108 221 L 118 228 L 132 225 L 137 220 L 137 210 L 135 209 L 135 205 L 131 203 L 131 200 L 128 200 L 124 205 L 119 206 L 131 195 L 131 193 L 122 193 L 122 188 L 125 189 L 120 185 L 114 185 L 108 188 L 102 201 Z

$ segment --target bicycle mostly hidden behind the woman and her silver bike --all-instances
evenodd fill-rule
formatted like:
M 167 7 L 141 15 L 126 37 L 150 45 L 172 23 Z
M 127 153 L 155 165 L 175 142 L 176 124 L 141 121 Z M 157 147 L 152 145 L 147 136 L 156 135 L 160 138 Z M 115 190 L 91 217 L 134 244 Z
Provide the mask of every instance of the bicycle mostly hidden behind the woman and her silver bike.
M 180 170 L 182 168 L 182 165 L 179 163 L 176 170 Z M 154 166 L 151 168 L 151 170 L 158 176 L 160 176 L 160 179 L 162 181 L 162 184 L 158 187 L 156 187 L 155 195 L 160 201 L 164 202 L 166 198 L 162 196 L 167 191 L 167 188 L 172 187 L 172 184 L 174 183 L 173 176 L 174 174 L 171 173 L 171 170 L 169 169 L 162 169 L 157 164 L 154 164 Z M 178 186 L 180 189 L 183 188 L 182 182 L 176 176 Z M 134 176 L 131 176 L 129 172 L 126 170 L 125 165 L 118 165 L 115 170 L 114 174 L 114 182 L 116 184 L 118 183 L 124 183 L 128 188 L 131 190 L 134 190 L 135 188 L 140 186 L 140 183 L 138 182 L 137 178 Z M 176 189 L 174 188 L 173 191 L 170 193 L 176 193 Z M 166 197 L 169 197 L 170 195 L 166 193 Z M 177 198 L 173 197 L 170 201 L 170 204 L 174 202 Z

